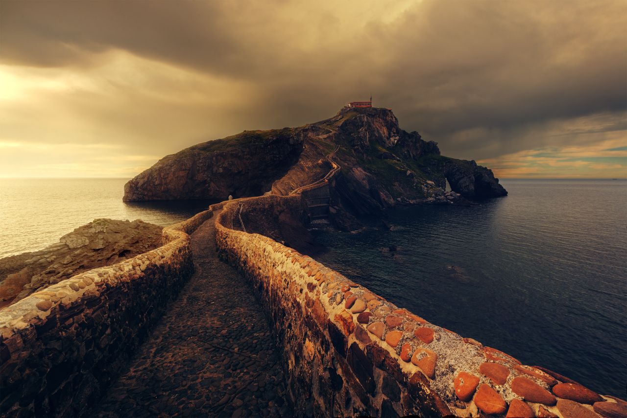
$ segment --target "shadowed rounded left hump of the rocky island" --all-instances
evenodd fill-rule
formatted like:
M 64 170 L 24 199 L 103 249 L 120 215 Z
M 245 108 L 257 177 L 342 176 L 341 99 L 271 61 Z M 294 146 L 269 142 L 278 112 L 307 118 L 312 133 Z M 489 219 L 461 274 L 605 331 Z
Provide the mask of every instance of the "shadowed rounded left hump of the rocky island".
M 124 186 L 124 201 L 226 200 L 269 191 L 298 160 L 293 129 L 245 131 L 168 155 Z

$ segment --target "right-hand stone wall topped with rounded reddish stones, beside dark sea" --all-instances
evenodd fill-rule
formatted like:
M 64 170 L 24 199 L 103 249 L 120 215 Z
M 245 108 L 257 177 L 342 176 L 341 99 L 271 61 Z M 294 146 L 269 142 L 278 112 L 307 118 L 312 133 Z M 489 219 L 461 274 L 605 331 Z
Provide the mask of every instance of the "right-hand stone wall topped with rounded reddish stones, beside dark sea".
M 271 211 L 270 199 L 257 199 Z M 298 414 L 627 414 L 623 400 L 429 323 L 266 236 L 229 229 L 234 208 L 218 216 L 218 248 L 275 326 Z

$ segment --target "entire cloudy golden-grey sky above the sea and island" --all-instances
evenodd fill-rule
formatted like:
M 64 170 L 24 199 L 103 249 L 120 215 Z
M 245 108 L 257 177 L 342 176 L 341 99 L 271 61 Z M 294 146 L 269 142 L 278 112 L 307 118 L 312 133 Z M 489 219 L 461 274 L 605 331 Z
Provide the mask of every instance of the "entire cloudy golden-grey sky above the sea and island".
M 0 177 L 133 177 L 370 95 L 497 177 L 627 177 L 627 1 L 0 0 Z

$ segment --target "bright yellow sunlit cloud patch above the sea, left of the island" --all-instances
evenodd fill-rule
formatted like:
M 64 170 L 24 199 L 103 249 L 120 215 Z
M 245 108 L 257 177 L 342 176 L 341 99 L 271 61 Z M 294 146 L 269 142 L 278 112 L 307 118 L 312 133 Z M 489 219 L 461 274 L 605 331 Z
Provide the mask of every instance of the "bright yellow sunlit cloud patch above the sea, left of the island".
M 0 177 L 132 177 L 166 154 L 241 131 L 234 109 L 255 97 L 245 81 L 124 51 L 90 68 L 0 66 L 0 92 L 0 147 L 13 150 L 0 155 Z M 103 155 L 106 164 L 95 164 Z

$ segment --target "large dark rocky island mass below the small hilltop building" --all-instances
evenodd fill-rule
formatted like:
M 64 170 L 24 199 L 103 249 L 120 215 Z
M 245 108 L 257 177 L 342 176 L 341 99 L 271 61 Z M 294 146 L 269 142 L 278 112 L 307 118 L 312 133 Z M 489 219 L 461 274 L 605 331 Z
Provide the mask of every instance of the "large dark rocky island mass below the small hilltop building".
M 440 155 L 384 108 L 343 108 L 300 128 L 243 132 L 169 155 L 130 180 L 126 201 L 287 195 L 324 177 L 334 152 L 333 213 L 377 214 L 397 204 L 504 196 L 492 171 Z M 448 179 L 453 192 L 445 191 Z M 340 216 L 340 215 L 338 215 Z

